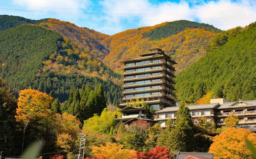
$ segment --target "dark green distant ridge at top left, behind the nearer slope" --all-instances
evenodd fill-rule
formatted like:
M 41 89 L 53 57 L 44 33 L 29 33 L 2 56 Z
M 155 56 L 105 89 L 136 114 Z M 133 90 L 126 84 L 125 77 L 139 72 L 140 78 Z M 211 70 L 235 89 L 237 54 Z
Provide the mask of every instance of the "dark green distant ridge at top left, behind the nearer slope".
M 45 21 L 47 21 L 47 19 L 31 20 L 19 16 L 0 15 L 0 31 L 23 24 L 39 24 Z

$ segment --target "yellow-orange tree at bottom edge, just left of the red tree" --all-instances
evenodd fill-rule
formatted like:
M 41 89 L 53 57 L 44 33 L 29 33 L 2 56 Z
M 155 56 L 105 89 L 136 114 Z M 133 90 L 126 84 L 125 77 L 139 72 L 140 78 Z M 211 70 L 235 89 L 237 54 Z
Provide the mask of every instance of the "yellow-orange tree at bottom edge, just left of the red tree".
M 136 159 L 136 151 L 123 149 L 123 145 L 118 143 L 106 143 L 106 146 L 93 146 L 93 153 L 96 158 L 105 157 L 106 159 Z

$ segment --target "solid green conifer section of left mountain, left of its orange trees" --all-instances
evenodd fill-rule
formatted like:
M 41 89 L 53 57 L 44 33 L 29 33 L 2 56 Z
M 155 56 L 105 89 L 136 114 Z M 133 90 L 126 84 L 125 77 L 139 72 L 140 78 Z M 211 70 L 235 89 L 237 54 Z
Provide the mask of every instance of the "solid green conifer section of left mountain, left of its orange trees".
M 43 67 L 42 62 L 58 51 L 56 32 L 22 25 L 0 32 L 0 74 L 11 85 L 22 89 Z

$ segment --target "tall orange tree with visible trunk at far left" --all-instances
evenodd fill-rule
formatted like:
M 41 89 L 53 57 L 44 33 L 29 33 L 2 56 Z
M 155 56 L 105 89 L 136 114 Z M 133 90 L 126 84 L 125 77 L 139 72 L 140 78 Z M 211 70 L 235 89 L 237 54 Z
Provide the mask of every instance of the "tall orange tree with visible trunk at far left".
M 47 116 L 47 109 L 50 108 L 52 101 L 52 97 L 37 90 L 25 89 L 20 91 L 15 118 L 16 121 L 24 124 L 22 150 L 26 128 L 30 121 L 36 117 Z

